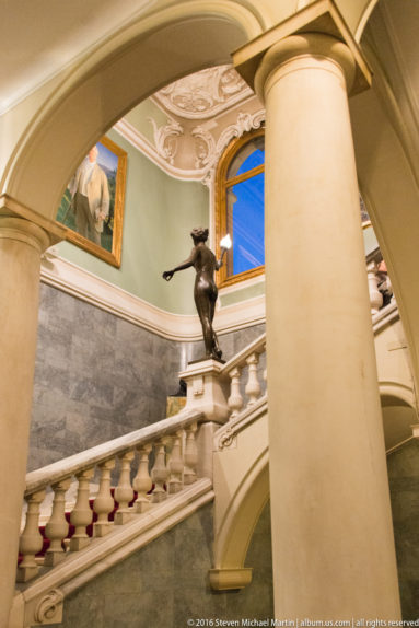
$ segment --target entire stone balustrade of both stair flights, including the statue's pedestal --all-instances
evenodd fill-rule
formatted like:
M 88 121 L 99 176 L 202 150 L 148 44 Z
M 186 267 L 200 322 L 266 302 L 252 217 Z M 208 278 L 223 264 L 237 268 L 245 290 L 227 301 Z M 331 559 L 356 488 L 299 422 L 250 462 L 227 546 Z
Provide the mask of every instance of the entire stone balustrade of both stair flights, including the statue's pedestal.
M 374 252 L 366 261 L 371 312 L 376 314 L 389 303 L 393 291 L 380 251 Z M 22 559 L 18 567 L 19 582 L 36 577 L 42 565 L 54 567 L 69 553 L 88 546 L 91 543 L 88 533 L 90 526 L 94 537 L 103 537 L 113 526 L 124 525 L 133 516 L 147 512 L 151 504 L 161 503 L 167 495 L 177 493 L 193 484 L 197 479 L 199 457 L 208 458 L 211 455 L 208 451 L 198 455 L 198 429 L 202 432 L 202 442 L 210 446 L 212 437 L 208 434 L 212 432 L 206 431 L 205 423 L 233 420 L 242 411 L 252 409 L 266 394 L 266 335 L 256 338 L 224 364 L 217 360 L 198 361 L 189 364 L 179 376 L 187 383 L 187 405 L 177 416 L 26 476 L 27 511 L 20 542 Z M 211 468 L 211 463 L 207 467 Z M 113 492 L 115 477 L 117 481 Z M 66 516 L 66 492 L 73 478 L 77 481 L 77 499 L 70 524 L 74 531 L 67 540 L 70 526 Z M 94 498 L 91 495 L 93 479 L 98 481 Z M 44 544 L 39 514 L 48 491 L 54 496 L 45 526 L 49 547 L 45 558 L 39 558 L 37 555 Z M 115 502 L 117 509 L 112 516 Z

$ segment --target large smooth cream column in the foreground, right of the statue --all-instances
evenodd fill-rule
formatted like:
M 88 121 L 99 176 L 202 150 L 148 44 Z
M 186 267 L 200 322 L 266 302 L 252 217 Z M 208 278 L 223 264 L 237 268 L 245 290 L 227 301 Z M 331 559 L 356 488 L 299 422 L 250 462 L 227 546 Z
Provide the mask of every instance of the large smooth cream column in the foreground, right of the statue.
M 346 44 L 265 54 L 266 310 L 276 616 L 399 617 Z

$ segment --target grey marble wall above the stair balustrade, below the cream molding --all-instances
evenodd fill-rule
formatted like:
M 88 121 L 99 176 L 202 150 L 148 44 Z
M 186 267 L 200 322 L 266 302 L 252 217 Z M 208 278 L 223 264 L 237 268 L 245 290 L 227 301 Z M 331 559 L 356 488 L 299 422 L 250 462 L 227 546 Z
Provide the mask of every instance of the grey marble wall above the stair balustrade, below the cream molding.
M 226 359 L 261 326 L 221 336 Z M 164 418 L 202 342 L 174 342 L 42 284 L 28 470 Z

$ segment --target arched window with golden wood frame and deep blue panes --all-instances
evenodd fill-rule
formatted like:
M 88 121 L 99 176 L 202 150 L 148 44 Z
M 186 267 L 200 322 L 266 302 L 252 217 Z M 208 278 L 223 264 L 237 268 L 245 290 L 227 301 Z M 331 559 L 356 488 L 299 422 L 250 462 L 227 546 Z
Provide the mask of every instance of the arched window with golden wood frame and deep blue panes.
M 222 155 L 216 177 L 217 253 L 230 233 L 219 284 L 231 286 L 265 270 L 265 129 L 234 140 Z

